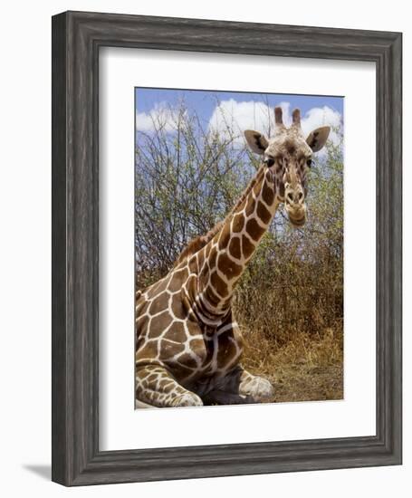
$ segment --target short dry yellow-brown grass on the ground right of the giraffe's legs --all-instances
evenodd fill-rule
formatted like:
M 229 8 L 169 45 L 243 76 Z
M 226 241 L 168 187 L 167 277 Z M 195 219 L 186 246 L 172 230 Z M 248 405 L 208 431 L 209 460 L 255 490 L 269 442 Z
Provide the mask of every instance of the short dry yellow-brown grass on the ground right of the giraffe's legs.
M 272 401 L 314 401 L 343 398 L 343 334 L 341 327 L 318 334 L 296 332 L 279 346 L 262 330 L 244 330 L 243 365 L 268 378 Z

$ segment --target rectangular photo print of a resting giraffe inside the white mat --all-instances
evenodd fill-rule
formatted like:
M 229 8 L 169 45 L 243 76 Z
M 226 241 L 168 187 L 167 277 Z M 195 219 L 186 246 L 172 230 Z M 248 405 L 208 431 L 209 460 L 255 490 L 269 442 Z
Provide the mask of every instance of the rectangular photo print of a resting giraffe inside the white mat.
M 135 112 L 135 407 L 342 399 L 343 98 Z

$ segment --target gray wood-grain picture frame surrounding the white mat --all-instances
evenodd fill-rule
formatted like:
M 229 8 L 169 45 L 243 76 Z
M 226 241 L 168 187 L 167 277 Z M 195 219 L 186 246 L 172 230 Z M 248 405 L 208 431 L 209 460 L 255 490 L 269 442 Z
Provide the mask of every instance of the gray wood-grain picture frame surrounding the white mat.
M 53 481 L 107 484 L 401 463 L 401 43 L 398 33 L 348 29 L 82 12 L 53 16 Z M 102 46 L 375 62 L 376 436 L 100 451 Z

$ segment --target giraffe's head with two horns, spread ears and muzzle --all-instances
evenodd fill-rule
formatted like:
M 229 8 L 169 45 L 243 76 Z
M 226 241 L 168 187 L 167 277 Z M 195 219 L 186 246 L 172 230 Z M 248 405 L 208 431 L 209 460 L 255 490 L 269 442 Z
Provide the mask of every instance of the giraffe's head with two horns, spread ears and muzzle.
M 275 133 L 266 139 L 262 133 L 247 129 L 244 137 L 249 147 L 263 156 L 263 164 L 273 172 L 277 195 L 284 203 L 286 214 L 293 226 L 306 221 L 306 174 L 311 168 L 311 158 L 328 139 L 330 127 L 313 129 L 305 139 L 301 129 L 301 111 L 292 112 L 292 125 L 283 124 L 282 108 L 274 108 Z

